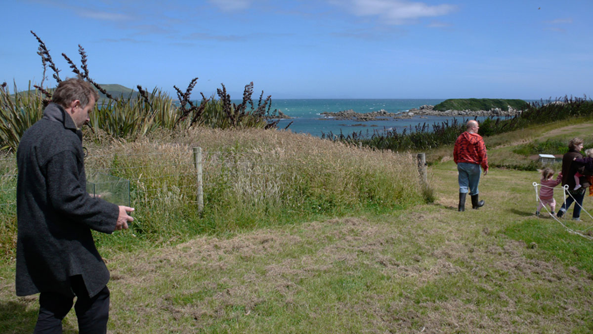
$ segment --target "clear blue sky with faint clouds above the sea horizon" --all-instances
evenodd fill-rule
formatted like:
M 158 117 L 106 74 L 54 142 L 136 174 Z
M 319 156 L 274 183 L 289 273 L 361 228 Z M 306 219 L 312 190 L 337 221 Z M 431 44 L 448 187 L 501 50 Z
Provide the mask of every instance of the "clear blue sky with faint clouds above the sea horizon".
M 0 82 L 42 80 L 33 30 L 88 54 L 95 81 L 193 95 L 254 82 L 272 98 L 525 98 L 593 94 L 593 1 L 10 1 Z M 55 85 L 51 72 L 46 85 Z M 11 88 L 12 89 L 12 88 Z

